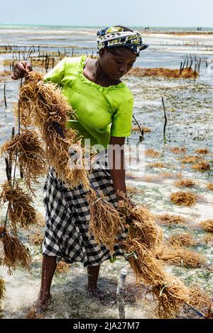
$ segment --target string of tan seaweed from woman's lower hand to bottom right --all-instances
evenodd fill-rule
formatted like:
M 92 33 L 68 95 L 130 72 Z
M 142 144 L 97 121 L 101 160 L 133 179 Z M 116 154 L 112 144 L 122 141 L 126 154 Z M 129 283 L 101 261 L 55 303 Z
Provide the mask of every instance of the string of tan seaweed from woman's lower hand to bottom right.
M 162 261 L 155 256 L 162 241 L 162 232 L 155 225 L 151 213 L 143 206 L 130 205 L 129 198 L 119 201 L 118 210 L 126 216 L 129 225 L 122 244 L 136 281 L 148 284 L 148 292 L 158 300 L 155 312 L 160 317 L 173 317 L 188 300 L 188 293 L 180 281 L 163 271 Z

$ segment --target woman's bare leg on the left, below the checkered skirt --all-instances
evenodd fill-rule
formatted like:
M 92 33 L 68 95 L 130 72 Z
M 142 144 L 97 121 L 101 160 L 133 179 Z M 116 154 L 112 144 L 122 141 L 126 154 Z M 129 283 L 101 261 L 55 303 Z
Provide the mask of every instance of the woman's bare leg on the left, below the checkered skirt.
M 43 254 L 40 292 L 36 303 L 36 310 L 38 312 L 42 312 L 50 299 L 50 287 L 56 266 L 55 256 L 46 256 Z

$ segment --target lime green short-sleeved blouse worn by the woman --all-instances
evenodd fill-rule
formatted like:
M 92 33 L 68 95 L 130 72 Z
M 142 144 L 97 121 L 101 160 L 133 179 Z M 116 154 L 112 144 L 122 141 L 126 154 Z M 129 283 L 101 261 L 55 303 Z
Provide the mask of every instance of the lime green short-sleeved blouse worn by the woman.
M 69 120 L 67 127 L 74 128 L 97 150 L 107 148 L 110 136 L 131 135 L 133 95 L 126 84 L 100 86 L 89 81 L 83 69 L 86 57 L 65 57 L 48 74 L 45 81 L 62 87 L 62 93 L 77 115 L 77 121 Z M 84 145 L 84 140 L 82 140 Z

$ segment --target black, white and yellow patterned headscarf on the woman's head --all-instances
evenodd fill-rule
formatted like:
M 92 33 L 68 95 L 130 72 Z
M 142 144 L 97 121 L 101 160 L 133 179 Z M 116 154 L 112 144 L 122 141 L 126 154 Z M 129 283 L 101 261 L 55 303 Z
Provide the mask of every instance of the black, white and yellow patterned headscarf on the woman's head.
M 145 50 L 149 45 L 143 40 L 137 31 L 125 31 L 124 28 L 117 26 L 103 28 L 97 32 L 97 47 L 125 46 L 129 47 L 139 56 L 141 50 Z

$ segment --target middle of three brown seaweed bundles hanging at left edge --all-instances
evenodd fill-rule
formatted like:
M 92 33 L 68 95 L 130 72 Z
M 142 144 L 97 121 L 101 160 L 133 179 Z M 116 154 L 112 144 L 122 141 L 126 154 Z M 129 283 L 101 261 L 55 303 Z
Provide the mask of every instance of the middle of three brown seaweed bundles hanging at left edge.
M 17 224 L 21 227 L 36 222 L 35 208 L 33 201 L 28 193 L 24 192 L 18 185 L 18 181 L 14 181 L 14 186 L 11 181 L 6 181 L 1 185 L 2 192 L 0 194 L 0 207 L 6 202 L 9 202 L 9 218 L 11 220 L 11 229 L 13 233 L 17 232 Z

